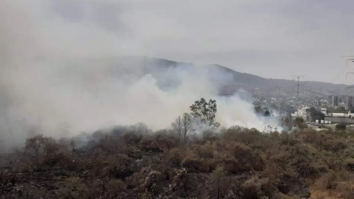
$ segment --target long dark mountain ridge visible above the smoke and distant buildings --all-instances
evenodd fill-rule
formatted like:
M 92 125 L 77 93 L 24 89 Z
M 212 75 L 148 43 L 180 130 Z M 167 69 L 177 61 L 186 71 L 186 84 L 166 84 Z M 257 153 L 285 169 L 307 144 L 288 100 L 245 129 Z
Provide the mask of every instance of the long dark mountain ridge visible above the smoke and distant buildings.
M 283 93 L 291 95 L 297 92 L 297 81 L 290 79 L 265 78 L 255 74 L 242 73 L 231 68 L 219 64 L 194 65 L 188 62 L 178 62 L 169 59 L 161 59 L 147 56 L 130 56 L 127 59 L 136 59 L 141 61 L 143 65 L 153 65 L 156 68 L 169 67 L 205 67 L 209 70 L 221 71 L 223 74 L 232 76 L 232 82 L 228 85 L 223 85 L 229 90 L 226 95 L 236 92 L 238 89 L 246 89 L 253 94 L 278 96 L 279 89 Z M 148 72 L 147 70 L 146 72 Z M 310 96 L 312 98 L 326 98 L 328 95 L 353 95 L 352 90 L 346 89 L 346 84 L 334 84 L 330 82 L 319 81 L 301 81 L 300 96 Z

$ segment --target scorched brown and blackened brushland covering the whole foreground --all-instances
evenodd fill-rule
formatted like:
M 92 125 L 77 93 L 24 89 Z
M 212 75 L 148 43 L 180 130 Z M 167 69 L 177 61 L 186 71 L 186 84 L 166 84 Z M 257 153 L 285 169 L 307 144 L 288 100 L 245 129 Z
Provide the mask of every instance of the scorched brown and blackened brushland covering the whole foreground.
M 214 101 L 204 102 L 216 112 Z M 196 133 L 193 115 L 156 132 L 136 125 L 72 139 L 38 134 L 2 155 L 0 198 L 354 198 L 349 129 Z

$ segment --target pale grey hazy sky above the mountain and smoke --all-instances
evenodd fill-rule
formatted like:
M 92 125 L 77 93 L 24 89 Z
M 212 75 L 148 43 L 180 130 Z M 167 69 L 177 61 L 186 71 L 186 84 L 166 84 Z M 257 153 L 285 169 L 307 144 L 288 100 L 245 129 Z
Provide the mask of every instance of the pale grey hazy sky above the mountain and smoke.
M 333 80 L 346 63 L 340 56 L 354 55 L 353 0 L 33 0 L 26 4 L 24 9 L 30 8 L 40 21 L 38 27 L 46 29 L 42 32 L 56 33 L 46 35 L 57 41 L 52 42 L 57 49 L 72 43 L 75 51 L 76 44 L 97 42 L 102 55 L 146 55 L 217 63 L 267 78 L 306 74 L 306 80 L 354 83 L 354 77 L 344 82 L 345 73 Z M 354 64 L 349 66 L 354 72 Z

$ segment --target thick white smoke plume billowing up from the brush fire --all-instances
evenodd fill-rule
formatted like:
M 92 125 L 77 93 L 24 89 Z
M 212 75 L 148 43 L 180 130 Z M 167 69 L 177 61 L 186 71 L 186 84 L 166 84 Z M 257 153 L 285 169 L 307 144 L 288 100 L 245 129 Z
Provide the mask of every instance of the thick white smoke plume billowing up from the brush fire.
M 23 142 L 33 126 L 48 136 L 138 122 L 169 128 L 201 97 L 217 100 L 216 120 L 223 126 L 278 126 L 238 96 L 218 97 L 206 70 L 122 61 L 137 47 L 134 40 L 93 26 L 87 17 L 72 22 L 51 14 L 49 5 L 57 1 L 30 2 L 5 0 L 0 7 L 0 144 Z M 141 49 L 134 52 L 143 55 Z M 225 73 L 213 77 L 230 81 Z M 169 79 L 176 82 L 166 88 L 173 89 L 163 89 Z

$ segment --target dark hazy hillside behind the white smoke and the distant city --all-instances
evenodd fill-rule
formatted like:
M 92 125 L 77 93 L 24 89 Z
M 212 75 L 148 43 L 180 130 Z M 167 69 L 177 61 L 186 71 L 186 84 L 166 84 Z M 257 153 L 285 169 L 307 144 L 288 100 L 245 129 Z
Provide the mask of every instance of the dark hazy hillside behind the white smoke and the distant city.
M 157 70 L 166 70 L 166 68 L 182 68 L 188 70 L 190 68 L 206 68 L 209 71 L 210 78 L 222 85 L 221 94 L 232 94 L 239 89 L 246 89 L 253 94 L 278 96 L 279 88 L 285 95 L 294 95 L 297 89 L 297 82 L 287 79 L 268 79 L 249 73 L 241 73 L 230 68 L 217 64 L 196 66 L 193 63 L 176 62 L 166 59 L 157 59 L 150 57 L 125 57 L 123 59 L 125 65 L 130 68 L 143 67 L 145 73 L 156 73 Z M 222 77 L 221 77 L 222 76 Z M 224 81 L 225 77 L 228 80 Z M 221 83 L 223 81 L 223 83 Z M 340 95 L 346 89 L 344 84 L 332 84 L 327 82 L 302 81 L 300 88 L 300 97 L 324 98 L 328 95 Z M 353 94 L 352 90 L 347 90 Z

